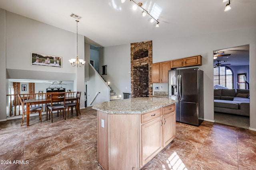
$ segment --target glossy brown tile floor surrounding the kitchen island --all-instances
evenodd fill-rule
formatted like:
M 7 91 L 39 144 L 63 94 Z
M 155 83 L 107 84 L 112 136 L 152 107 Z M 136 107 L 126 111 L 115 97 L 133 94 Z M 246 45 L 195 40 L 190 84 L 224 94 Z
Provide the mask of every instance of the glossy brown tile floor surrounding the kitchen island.
M 0 122 L 1 170 L 101 170 L 97 164 L 97 112 L 81 109 L 65 120 L 30 126 L 20 119 Z M 16 162 L 18 160 L 18 162 Z M 7 164 L 7 162 L 10 164 Z M 15 164 L 16 163 L 16 164 Z M 142 170 L 253 170 L 256 132 L 204 121 L 199 127 L 176 123 L 176 138 Z

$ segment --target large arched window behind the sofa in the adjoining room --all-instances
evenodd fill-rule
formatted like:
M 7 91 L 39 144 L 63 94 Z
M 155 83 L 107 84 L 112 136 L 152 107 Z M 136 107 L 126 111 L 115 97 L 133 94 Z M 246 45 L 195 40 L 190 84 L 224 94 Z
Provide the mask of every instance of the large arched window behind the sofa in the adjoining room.
M 228 66 L 213 68 L 213 84 L 220 84 L 228 89 L 234 88 L 233 71 Z

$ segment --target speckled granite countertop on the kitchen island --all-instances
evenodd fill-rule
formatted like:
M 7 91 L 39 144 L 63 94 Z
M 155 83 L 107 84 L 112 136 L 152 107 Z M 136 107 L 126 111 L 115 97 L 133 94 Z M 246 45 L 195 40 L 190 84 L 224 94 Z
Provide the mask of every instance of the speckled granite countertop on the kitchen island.
M 108 114 L 142 114 L 175 103 L 175 100 L 168 98 L 130 98 L 101 102 L 92 106 L 92 109 Z

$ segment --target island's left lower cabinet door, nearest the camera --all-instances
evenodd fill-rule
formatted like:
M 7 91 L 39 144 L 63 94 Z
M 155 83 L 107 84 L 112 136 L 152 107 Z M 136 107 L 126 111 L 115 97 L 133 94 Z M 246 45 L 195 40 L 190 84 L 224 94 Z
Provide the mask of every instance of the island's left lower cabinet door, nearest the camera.
M 141 127 L 142 166 L 162 150 L 162 116 Z

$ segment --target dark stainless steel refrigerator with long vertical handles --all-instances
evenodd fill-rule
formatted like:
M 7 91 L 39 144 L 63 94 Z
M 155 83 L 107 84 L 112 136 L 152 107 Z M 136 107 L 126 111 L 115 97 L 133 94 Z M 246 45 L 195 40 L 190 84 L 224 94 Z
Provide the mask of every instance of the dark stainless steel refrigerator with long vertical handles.
M 204 79 L 198 68 L 168 72 L 169 98 L 176 100 L 176 121 L 199 126 L 204 119 Z

